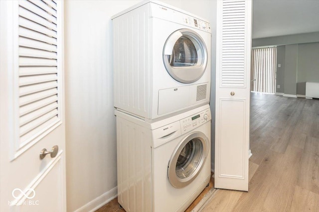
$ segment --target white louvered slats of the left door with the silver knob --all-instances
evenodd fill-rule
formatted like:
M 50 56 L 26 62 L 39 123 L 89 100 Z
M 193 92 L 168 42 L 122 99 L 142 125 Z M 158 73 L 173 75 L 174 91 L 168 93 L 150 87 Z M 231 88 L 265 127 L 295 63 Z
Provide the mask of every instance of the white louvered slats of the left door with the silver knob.
M 56 8 L 52 0 L 19 1 L 20 145 L 59 119 Z

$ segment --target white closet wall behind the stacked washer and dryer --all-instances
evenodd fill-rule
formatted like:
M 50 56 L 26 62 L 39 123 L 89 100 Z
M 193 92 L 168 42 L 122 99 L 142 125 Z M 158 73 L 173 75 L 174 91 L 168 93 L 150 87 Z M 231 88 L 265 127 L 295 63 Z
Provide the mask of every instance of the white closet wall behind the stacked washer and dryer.
M 111 16 L 139 1 L 65 1 L 67 211 L 89 211 L 117 193 Z M 215 114 L 216 1 L 164 2 L 211 22 Z

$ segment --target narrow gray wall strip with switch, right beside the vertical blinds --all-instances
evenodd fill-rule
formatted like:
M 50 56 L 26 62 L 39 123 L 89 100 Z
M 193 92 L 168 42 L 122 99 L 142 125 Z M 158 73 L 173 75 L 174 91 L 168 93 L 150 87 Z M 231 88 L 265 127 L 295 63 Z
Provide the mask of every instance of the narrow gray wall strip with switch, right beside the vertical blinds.
M 284 93 L 285 86 L 285 46 L 277 47 L 276 92 Z M 280 64 L 280 67 L 278 65 Z M 278 88 L 278 85 L 280 88 Z

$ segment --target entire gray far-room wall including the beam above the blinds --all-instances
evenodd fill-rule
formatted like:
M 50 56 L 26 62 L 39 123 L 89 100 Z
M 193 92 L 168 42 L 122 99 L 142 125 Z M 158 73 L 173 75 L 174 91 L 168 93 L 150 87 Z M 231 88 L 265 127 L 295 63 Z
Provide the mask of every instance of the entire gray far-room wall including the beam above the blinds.
M 305 95 L 307 81 L 319 82 L 319 32 L 253 40 L 253 47 L 276 45 L 276 92 Z

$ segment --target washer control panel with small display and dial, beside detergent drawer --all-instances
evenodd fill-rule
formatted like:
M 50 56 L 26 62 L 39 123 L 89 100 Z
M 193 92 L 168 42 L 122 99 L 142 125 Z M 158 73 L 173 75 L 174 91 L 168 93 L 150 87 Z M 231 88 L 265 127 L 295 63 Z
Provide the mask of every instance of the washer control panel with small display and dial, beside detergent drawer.
M 187 132 L 211 120 L 210 109 L 206 109 L 192 116 L 180 120 L 182 132 Z

